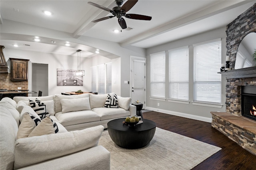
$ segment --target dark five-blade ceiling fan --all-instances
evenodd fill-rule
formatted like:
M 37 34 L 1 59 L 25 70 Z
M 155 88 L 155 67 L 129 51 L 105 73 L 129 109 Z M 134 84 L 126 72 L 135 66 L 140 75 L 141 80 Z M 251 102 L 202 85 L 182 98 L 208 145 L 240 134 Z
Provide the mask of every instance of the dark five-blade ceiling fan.
M 127 0 L 124 5 L 121 7 L 121 5 L 123 4 L 123 0 L 115 0 L 116 2 L 116 7 L 114 7 L 112 10 L 104 7 L 104 6 L 100 6 L 98 4 L 95 4 L 93 2 L 88 2 L 88 4 L 95 6 L 97 8 L 100 8 L 102 10 L 106 10 L 108 12 L 110 12 L 111 14 L 113 14 L 113 16 L 107 16 L 104 18 L 100 18 L 98 20 L 94 20 L 92 22 L 98 22 L 98 21 L 103 21 L 103 20 L 107 20 L 109 18 L 113 18 L 116 17 L 118 18 L 118 23 L 119 25 L 122 27 L 122 29 L 126 29 L 126 22 L 124 20 L 124 18 L 122 18 L 123 16 L 126 18 L 130 18 L 130 19 L 134 19 L 134 20 L 151 20 L 152 17 L 150 16 L 144 16 L 144 15 L 139 15 L 139 14 L 126 14 L 126 12 L 128 12 L 137 2 L 138 0 Z

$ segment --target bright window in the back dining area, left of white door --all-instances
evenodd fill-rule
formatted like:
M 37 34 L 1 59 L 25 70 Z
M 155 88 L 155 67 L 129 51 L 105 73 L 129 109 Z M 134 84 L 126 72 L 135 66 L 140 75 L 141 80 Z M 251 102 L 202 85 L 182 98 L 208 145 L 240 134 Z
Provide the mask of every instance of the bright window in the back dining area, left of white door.
M 91 67 L 91 91 L 99 94 L 112 92 L 112 65 L 100 64 Z

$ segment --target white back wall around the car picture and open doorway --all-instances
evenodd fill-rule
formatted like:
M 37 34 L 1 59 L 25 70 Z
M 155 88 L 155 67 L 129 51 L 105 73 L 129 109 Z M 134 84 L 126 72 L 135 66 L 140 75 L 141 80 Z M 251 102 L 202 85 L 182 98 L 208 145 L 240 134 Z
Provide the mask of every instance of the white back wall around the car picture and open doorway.
M 90 84 L 90 67 L 102 63 L 111 62 L 111 59 L 106 57 L 91 57 L 84 58 L 81 57 L 81 69 L 85 70 L 85 76 L 83 76 L 83 86 L 57 86 L 57 68 L 62 69 L 77 69 L 77 57 L 67 56 L 67 55 L 56 55 L 52 53 L 40 53 L 34 51 L 24 51 L 24 50 L 16 50 L 16 49 L 8 49 L 4 48 L 4 56 L 6 58 L 9 72 L 10 72 L 10 60 L 9 58 L 17 58 L 17 59 L 29 59 L 28 62 L 28 89 L 32 89 L 32 63 L 41 63 L 48 64 L 48 95 L 61 94 L 62 92 L 70 92 L 82 90 L 84 92 L 90 92 L 91 84 Z M 115 68 L 120 68 L 120 59 L 114 59 Z M 116 78 L 116 75 L 114 75 Z M 44 80 L 41 80 L 44 81 Z M 46 80 L 45 80 L 46 81 Z M 117 81 L 119 83 L 119 81 Z M 120 84 L 116 84 L 120 86 Z M 115 86 L 114 86 L 115 87 Z M 120 89 L 120 88 L 117 88 Z M 118 91 L 120 94 L 120 90 Z M 119 95 L 118 94 L 118 95 Z

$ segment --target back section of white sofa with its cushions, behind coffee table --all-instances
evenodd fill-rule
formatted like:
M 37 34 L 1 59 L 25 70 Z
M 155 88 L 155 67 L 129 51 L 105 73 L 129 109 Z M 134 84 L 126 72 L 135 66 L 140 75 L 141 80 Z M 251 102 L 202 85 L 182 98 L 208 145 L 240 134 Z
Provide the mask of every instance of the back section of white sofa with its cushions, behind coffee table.
M 107 96 L 108 94 L 16 96 L 14 101 L 17 103 L 18 111 L 22 111 L 23 107 L 28 105 L 29 100 L 38 98 L 46 104 L 50 117 L 61 123 L 68 131 L 97 125 L 103 125 L 104 128 L 107 128 L 107 123 L 110 120 L 136 115 L 136 106 L 130 104 L 131 98 L 117 96 L 119 108 L 106 108 L 104 105 Z

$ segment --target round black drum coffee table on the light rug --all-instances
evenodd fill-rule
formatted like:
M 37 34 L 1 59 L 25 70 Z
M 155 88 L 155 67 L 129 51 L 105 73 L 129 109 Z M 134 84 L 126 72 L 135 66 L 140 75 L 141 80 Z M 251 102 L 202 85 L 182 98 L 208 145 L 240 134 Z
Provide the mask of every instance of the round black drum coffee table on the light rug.
M 150 143 L 156 131 L 156 123 L 142 119 L 143 123 L 130 127 L 122 123 L 125 118 L 114 119 L 108 122 L 108 134 L 119 147 L 138 149 Z

